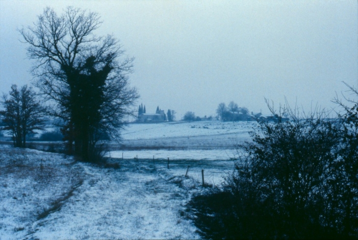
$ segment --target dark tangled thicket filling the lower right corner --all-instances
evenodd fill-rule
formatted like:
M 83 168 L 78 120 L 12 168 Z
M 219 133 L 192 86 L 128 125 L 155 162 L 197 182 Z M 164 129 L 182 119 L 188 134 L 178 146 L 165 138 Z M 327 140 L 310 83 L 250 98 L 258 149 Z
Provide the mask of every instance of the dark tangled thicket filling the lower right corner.
M 189 202 L 203 237 L 358 238 L 358 103 L 336 102 L 345 109 L 336 119 L 269 106 L 291 120 L 259 121 L 223 188 Z

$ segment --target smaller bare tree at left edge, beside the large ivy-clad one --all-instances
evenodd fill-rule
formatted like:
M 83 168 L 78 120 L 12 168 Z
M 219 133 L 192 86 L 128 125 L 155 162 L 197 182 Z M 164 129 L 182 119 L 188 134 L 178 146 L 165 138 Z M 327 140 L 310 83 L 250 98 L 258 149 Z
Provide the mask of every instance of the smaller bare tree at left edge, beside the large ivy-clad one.
M 1 129 L 12 134 L 15 146 L 26 147 L 26 136 L 35 129 L 42 129 L 44 110 L 35 92 L 27 85 L 21 89 L 12 85 L 9 95 L 9 98 L 5 94 L 2 96 Z

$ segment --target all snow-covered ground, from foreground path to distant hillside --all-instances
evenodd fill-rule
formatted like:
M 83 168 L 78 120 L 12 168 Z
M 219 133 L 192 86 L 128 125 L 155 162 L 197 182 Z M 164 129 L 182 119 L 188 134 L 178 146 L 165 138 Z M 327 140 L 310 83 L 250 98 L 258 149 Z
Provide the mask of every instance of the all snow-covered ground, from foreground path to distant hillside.
M 202 169 L 205 184 L 220 185 L 234 167 L 233 144 L 250 140 L 255 124 L 130 124 L 124 142 L 137 148 L 107 155 L 120 168 L 0 145 L 0 239 L 199 239 L 185 204 L 205 191 Z M 207 142 L 186 147 L 192 138 Z

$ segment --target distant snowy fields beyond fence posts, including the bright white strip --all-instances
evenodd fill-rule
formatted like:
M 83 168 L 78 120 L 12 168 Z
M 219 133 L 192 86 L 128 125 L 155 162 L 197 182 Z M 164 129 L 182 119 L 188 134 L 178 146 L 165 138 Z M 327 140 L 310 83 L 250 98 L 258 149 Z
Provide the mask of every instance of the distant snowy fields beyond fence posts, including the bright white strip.
M 251 141 L 255 121 L 165 122 L 129 124 L 123 142 L 107 156 L 124 159 L 230 160 L 235 144 Z

